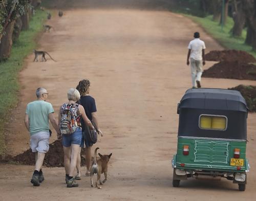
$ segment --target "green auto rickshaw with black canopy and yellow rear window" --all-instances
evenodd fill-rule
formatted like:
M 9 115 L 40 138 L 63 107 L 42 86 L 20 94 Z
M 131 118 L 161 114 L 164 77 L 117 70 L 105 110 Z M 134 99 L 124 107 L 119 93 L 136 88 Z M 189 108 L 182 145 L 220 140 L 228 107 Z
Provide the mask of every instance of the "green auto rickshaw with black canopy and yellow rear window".
M 244 191 L 249 163 L 246 159 L 248 108 L 240 92 L 218 88 L 192 88 L 178 104 L 177 153 L 172 160 L 173 186 L 195 177 L 238 184 Z

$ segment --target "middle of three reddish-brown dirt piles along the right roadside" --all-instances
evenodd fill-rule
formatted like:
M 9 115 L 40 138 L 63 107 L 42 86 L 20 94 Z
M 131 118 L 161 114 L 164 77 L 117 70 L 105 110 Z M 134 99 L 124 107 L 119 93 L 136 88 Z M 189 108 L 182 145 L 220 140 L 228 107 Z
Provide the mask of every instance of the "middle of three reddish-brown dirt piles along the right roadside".
M 221 61 L 205 70 L 203 77 L 256 80 L 256 65 L 239 61 Z

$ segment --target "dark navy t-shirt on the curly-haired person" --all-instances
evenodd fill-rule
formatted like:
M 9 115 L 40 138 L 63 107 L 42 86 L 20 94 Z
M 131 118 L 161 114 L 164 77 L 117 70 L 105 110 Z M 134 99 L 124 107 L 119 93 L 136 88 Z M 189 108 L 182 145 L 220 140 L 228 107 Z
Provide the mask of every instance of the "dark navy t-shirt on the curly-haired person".
M 78 102 L 80 105 L 83 106 L 84 110 L 86 111 L 86 116 L 88 117 L 88 119 L 92 121 L 92 113 L 95 113 L 95 111 L 97 111 L 94 98 L 91 96 L 81 96 Z M 81 124 L 82 124 L 82 131 L 83 131 L 84 122 L 81 121 Z

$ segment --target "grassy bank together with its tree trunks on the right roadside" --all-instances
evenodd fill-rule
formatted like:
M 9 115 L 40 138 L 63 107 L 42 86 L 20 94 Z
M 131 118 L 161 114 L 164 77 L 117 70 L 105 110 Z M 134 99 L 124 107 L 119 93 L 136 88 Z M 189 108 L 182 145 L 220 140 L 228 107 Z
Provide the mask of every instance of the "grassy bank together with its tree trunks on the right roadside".
M 191 18 L 224 48 L 256 57 L 256 0 L 177 0 L 171 9 Z M 223 10 L 222 10 L 223 8 Z

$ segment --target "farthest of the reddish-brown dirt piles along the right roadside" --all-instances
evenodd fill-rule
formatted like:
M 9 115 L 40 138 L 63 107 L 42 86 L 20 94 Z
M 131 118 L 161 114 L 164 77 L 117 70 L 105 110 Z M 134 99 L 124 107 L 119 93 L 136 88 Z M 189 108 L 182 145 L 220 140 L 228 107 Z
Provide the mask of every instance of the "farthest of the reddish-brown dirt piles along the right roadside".
M 205 55 L 207 61 L 240 61 L 243 63 L 253 63 L 256 59 L 245 51 L 223 50 L 210 51 Z

